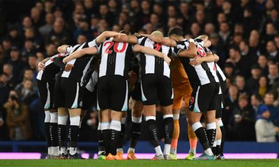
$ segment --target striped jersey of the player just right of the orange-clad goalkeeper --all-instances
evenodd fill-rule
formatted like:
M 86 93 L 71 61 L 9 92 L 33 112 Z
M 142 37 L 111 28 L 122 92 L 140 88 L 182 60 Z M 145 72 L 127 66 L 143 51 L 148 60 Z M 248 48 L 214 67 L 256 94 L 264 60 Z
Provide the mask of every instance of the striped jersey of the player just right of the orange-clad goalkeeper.
M 204 42 L 202 41 L 195 41 L 197 47 L 197 56 L 204 57 L 206 56 L 206 48 L 204 47 Z M 188 40 L 183 40 L 180 42 L 176 42 L 176 47 L 174 48 L 174 52 L 176 55 L 179 54 L 181 49 L 188 49 L 190 42 Z M 190 81 L 190 84 L 193 89 L 197 88 L 198 86 L 218 82 L 218 77 L 216 74 L 216 67 L 215 63 L 206 63 L 203 62 L 200 65 L 192 66 L 190 65 L 190 61 L 193 61 L 194 58 L 181 58 L 181 63 L 183 64 Z

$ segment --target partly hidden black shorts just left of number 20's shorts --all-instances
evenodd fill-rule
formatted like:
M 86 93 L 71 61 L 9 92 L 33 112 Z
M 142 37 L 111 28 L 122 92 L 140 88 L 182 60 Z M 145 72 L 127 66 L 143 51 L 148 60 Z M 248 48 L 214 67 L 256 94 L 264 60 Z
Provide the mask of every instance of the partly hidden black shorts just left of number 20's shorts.
M 82 110 L 87 110 L 91 106 L 97 105 L 97 89 L 95 88 L 93 92 L 86 88 L 82 88 Z

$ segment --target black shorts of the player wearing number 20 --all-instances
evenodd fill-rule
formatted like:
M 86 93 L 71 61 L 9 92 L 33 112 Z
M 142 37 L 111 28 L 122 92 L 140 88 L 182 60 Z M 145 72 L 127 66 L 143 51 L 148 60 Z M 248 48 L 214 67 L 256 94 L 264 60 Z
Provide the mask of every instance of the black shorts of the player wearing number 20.
M 121 75 L 103 76 L 98 80 L 97 109 L 128 110 L 128 82 Z

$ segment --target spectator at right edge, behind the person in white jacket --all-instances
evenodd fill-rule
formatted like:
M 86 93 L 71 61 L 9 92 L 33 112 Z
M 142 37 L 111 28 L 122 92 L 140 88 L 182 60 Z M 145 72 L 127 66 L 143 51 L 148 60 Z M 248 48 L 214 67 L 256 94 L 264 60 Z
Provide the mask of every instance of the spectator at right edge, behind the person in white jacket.
M 271 116 L 269 120 L 271 120 L 274 125 L 279 126 L 279 108 L 278 106 L 274 106 L 274 95 L 272 93 L 266 93 L 264 96 L 264 104 L 269 108 L 271 112 Z

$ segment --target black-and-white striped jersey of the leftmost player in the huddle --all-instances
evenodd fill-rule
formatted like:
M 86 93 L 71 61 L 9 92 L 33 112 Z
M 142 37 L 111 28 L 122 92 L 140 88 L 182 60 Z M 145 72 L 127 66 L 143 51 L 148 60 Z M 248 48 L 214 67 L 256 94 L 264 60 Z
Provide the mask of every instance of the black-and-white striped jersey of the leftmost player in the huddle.
M 68 56 L 66 53 L 52 56 L 48 61 L 45 62 L 45 70 L 40 70 L 36 78 L 40 81 L 50 81 L 51 79 L 54 79 L 55 75 L 60 71 L 60 67 L 54 64 L 53 59 L 59 57 L 62 60 L 66 56 Z

